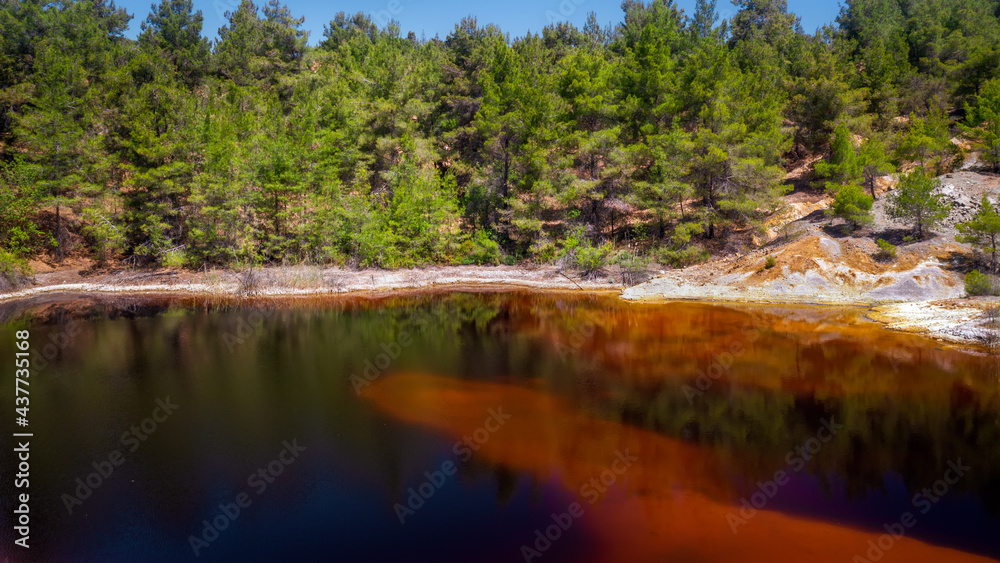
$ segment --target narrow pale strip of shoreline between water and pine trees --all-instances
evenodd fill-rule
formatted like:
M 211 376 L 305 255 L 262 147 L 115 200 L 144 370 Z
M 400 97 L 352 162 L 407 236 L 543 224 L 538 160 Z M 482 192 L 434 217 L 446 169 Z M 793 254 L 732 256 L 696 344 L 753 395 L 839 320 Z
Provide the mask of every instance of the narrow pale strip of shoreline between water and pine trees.
M 863 309 L 864 317 L 887 330 L 920 334 L 938 341 L 982 350 L 985 333 L 981 328 L 985 311 L 997 307 L 997 300 L 926 300 L 861 302 L 853 299 L 805 299 L 802 295 L 776 295 L 773 299 L 753 292 L 699 294 L 696 284 L 685 291 L 650 293 L 629 291 L 612 276 L 583 279 L 552 266 L 436 266 L 413 270 L 344 270 L 340 268 L 262 268 L 249 295 L 241 294 L 239 273 L 232 270 L 192 272 L 186 270 L 119 271 L 93 276 L 92 281 L 65 279 L 65 270 L 40 274 L 35 285 L 0 293 L 0 304 L 59 294 L 148 295 L 150 297 L 219 297 L 278 299 L 294 297 L 336 297 L 364 294 L 405 294 L 426 290 L 529 290 L 541 292 L 614 293 L 629 303 L 691 302 L 713 305 L 797 305 L 820 308 Z M 70 276 L 72 277 L 72 276 Z M 77 275 L 77 278 L 80 276 Z M 160 281 L 167 278 L 165 282 Z M 609 283 L 610 282 L 610 283 Z M 984 332 L 985 331 L 985 332 Z M 996 330 L 992 331 L 994 334 Z

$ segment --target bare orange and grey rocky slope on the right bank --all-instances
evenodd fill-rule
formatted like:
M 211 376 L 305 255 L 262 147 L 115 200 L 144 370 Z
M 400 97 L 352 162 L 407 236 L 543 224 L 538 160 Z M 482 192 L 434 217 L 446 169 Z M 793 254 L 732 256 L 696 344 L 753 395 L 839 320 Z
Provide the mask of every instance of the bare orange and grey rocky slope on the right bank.
M 824 216 L 829 197 L 800 191 L 786 198 L 785 210 L 768 225 L 770 243 L 743 255 L 664 272 L 622 296 L 637 301 L 859 305 L 874 307 L 872 318 L 894 328 L 977 339 L 988 332 L 983 312 L 997 302 L 961 299 L 973 252 L 956 242 L 955 225 L 969 220 L 984 194 L 997 197 L 1000 176 L 962 170 L 940 180 L 939 193 L 952 203 L 952 213 L 927 240 L 909 241 L 907 226 L 888 217 L 887 194 L 894 178 L 878 183 L 875 224 L 852 235 Z M 895 260 L 875 259 L 879 238 L 899 245 Z M 771 268 L 766 267 L 769 256 L 774 259 Z

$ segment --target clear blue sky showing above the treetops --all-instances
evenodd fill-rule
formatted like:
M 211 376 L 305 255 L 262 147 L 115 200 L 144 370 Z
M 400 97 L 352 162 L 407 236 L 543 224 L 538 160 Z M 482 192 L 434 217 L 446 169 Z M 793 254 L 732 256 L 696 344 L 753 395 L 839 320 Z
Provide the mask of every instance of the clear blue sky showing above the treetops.
M 267 0 L 255 0 L 262 6 Z M 139 23 L 149 14 L 151 0 L 119 0 L 115 3 L 124 7 L 134 16 L 129 28 L 129 36 L 139 33 Z M 159 0 L 157 0 L 159 2 Z M 315 45 L 323 39 L 323 24 L 329 23 L 340 11 L 353 14 L 372 14 L 379 23 L 387 18 L 400 22 L 403 35 L 414 31 L 417 37 L 426 34 L 432 38 L 440 34 L 444 39 L 463 17 L 474 15 L 481 25 L 495 23 L 512 37 L 524 35 L 527 31 L 539 32 L 550 19 L 570 21 L 582 27 L 588 12 L 596 12 L 603 24 L 622 20 L 620 0 L 503 0 L 484 3 L 470 3 L 461 0 L 341 0 L 317 2 L 315 0 L 286 0 L 292 14 L 305 16 L 305 29 L 309 43 Z M 223 14 L 235 10 L 239 0 L 194 0 L 196 10 L 205 16 L 202 33 L 215 38 L 217 31 L 225 24 Z M 688 14 L 694 11 L 695 0 L 679 0 L 678 5 Z M 809 33 L 831 23 L 840 11 L 839 3 L 829 1 L 788 0 L 788 9 L 802 18 L 802 27 Z M 734 13 L 732 4 L 719 0 L 719 12 L 725 17 Z

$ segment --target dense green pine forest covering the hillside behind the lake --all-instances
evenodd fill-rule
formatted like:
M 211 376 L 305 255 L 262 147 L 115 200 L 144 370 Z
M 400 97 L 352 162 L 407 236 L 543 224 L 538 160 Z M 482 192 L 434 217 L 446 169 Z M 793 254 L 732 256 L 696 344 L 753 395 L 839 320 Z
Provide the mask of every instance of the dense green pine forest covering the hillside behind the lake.
M 65 240 L 38 217 L 70 206 L 102 260 L 594 272 L 639 238 L 684 266 L 764 224 L 785 165 L 827 144 L 854 227 L 890 155 L 953 161 L 953 108 L 1000 167 L 990 2 L 847 0 L 809 35 L 784 0 L 735 7 L 629 0 L 618 26 L 516 38 L 466 18 L 444 40 L 338 13 L 311 49 L 280 0 L 241 1 L 213 44 L 191 0 L 134 40 L 112 3 L 0 2 L 0 245 Z M 922 198 L 896 206 L 921 235 Z

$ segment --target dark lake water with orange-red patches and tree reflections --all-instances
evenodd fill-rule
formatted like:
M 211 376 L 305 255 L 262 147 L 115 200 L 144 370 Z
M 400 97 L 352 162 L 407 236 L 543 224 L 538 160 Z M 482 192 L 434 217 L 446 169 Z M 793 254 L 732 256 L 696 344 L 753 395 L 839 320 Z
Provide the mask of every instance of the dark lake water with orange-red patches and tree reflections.
M 5 364 L 15 330 L 58 352 L 31 376 L 29 550 L 0 388 L 4 561 L 849 561 L 907 512 L 883 560 L 1000 558 L 996 360 L 856 312 L 481 292 L 2 313 Z

